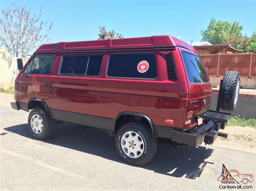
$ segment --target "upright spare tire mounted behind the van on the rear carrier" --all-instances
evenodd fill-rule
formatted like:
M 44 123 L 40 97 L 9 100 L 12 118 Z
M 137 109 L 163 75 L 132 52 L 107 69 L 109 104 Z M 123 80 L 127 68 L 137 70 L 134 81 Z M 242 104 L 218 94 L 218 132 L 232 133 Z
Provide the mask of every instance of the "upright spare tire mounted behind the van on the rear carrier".
M 227 71 L 219 90 L 220 109 L 233 111 L 237 105 L 240 90 L 240 73 Z

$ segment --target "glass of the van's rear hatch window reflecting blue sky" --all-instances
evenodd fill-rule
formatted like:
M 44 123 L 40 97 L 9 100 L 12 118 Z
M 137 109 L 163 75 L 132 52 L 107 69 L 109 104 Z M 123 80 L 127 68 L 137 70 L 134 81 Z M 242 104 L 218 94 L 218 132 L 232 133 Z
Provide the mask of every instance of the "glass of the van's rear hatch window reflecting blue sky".
M 206 71 L 201 59 L 193 54 L 181 52 L 188 78 L 192 83 L 208 82 Z

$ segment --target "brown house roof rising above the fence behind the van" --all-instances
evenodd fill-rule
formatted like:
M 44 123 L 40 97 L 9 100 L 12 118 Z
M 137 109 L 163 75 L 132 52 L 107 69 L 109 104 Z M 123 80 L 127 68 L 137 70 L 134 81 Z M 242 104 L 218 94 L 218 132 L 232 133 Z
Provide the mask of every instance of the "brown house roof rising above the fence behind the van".
M 204 45 L 204 46 L 193 46 L 197 51 L 200 52 L 241 52 L 240 49 L 235 49 L 231 45 L 222 44 L 222 45 Z

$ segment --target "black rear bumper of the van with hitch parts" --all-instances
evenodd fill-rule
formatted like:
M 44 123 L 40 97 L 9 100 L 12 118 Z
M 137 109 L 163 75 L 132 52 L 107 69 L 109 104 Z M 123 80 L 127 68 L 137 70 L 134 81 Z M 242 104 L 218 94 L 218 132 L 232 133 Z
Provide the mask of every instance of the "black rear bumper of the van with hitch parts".
M 219 132 L 219 129 L 224 127 L 226 122 L 217 123 L 214 121 L 208 121 L 205 125 L 192 132 L 183 132 L 173 130 L 168 127 L 156 127 L 156 135 L 158 138 L 171 139 L 173 142 L 183 143 L 187 145 L 197 146 L 202 144 L 213 144 L 214 140 L 218 137 L 227 137 L 226 133 Z

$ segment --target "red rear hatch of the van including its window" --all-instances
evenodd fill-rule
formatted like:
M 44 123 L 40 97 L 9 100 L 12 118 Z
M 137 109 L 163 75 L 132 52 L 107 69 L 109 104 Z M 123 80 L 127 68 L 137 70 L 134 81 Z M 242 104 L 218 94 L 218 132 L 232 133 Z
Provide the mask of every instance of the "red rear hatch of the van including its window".
M 182 48 L 181 57 L 187 74 L 190 94 L 187 118 L 196 117 L 210 108 L 212 87 L 203 62 L 198 55 Z

